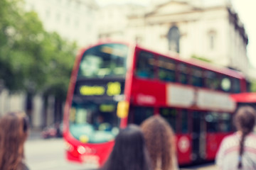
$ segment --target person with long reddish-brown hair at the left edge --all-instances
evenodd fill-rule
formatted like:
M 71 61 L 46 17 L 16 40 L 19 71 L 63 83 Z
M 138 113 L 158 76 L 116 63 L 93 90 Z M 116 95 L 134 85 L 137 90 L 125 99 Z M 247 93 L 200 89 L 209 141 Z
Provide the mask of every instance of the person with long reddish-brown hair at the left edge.
M 24 142 L 28 137 L 25 113 L 7 113 L 0 118 L 0 169 L 28 170 L 24 162 Z

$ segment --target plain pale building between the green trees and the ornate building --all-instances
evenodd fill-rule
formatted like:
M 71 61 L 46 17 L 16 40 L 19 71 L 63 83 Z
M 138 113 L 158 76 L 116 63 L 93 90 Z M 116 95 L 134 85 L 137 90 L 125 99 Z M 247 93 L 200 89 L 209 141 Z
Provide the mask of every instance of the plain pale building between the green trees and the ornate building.
M 36 11 L 43 26 L 80 47 L 97 40 L 94 0 L 25 0 L 27 11 Z

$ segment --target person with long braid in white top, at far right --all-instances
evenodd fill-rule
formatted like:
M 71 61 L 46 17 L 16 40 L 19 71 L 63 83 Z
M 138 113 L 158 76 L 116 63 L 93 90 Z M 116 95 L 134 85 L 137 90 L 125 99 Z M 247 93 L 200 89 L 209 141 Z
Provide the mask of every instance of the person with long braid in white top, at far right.
M 223 139 L 216 155 L 216 164 L 222 169 L 256 169 L 255 109 L 241 106 L 235 113 L 237 132 Z

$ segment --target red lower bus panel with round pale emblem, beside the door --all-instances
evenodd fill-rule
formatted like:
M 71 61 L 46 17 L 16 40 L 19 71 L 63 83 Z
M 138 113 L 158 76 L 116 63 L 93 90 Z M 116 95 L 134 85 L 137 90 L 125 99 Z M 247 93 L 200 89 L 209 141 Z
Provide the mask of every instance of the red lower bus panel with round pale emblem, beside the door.
M 176 153 L 178 157 L 178 164 L 191 163 L 191 135 L 176 135 Z

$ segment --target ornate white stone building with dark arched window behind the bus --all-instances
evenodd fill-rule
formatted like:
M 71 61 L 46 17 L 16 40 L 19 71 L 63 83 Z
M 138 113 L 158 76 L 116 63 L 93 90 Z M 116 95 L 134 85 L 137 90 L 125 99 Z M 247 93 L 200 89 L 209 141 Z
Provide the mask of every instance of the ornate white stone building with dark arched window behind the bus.
M 185 59 L 196 55 L 248 74 L 247 34 L 230 1 L 163 0 L 143 11 L 128 13 L 119 39 Z M 117 38 L 111 32 L 105 35 Z

